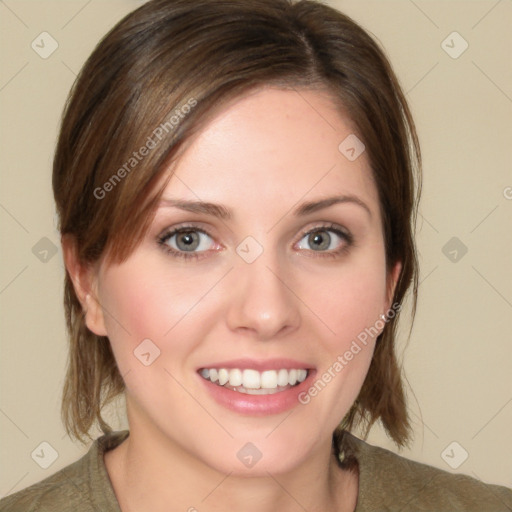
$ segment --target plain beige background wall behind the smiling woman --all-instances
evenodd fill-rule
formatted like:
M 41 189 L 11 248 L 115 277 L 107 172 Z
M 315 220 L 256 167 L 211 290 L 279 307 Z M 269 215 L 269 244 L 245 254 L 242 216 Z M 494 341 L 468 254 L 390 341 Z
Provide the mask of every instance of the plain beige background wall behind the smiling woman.
M 99 38 L 141 3 L 0 1 L 0 496 L 87 449 L 65 436 L 59 417 L 67 350 L 60 248 L 40 260 L 59 240 L 51 161 L 75 74 Z M 416 438 L 402 454 L 512 486 L 512 2 L 330 3 L 387 50 L 424 153 L 420 298 L 403 352 Z M 47 59 L 31 48 L 43 31 L 59 45 Z M 458 58 L 441 46 L 453 31 L 469 44 Z M 463 41 L 451 36 L 445 44 L 453 53 Z M 443 252 L 452 237 L 467 247 L 455 262 L 445 256 L 453 247 Z M 394 450 L 378 428 L 369 440 Z M 47 469 L 31 457 L 41 442 L 58 452 Z

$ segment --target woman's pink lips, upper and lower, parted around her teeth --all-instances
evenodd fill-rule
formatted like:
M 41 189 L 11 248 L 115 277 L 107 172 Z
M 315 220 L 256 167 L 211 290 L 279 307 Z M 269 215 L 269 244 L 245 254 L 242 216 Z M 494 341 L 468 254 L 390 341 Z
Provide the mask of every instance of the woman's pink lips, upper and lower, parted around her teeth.
M 215 365 L 202 368 L 228 369 L 242 367 L 244 369 L 248 368 L 258 371 L 276 368 L 308 368 L 309 370 L 308 376 L 303 382 L 293 386 L 290 389 L 287 389 L 286 391 L 280 391 L 279 393 L 274 393 L 272 395 L 248 395 L 245 393 L 240 393 L 239 391 L 233 391 L 223 386 L 219 386 L 218 384 L 214 384 L 213 382 L 205 379 L 199 373 L 197 373 L 197 378 L 201 380 L 207 393 L 215 400 L 215 402 L 217 402 L 217 404 L 230 411 L 246 416 L 268 416 L 272 414 L 279 414 L 299 406 L 301 404 L 299 401 L 300 393 L 303 393 L 312 385 L 316 375 L 316 370 L 308 367 L 308 365 L 304 365 L 304 363 L 298 363 L 299 366 L 295 366 L 297 365 L 297 362 L 293 362 L 291 366 L 289 366 L 290 360 L 287 360 L 288 363 L 284 366 L 280 366 L 283 364 L 284 360 L 274 360 L 274 367 L 269 366 L 269 361 L 266 361 L 263 366 L 261 364 L 251 365 L 247 362 L 240 364 L 240 361 L 236 364 L 234 361 L 230 361 L 229 365 L 222 363 L 219 364 L 219 366 L 217 366 L 218 363 L 216 363 Z M 254 363 L 254 361 L 252 362 Z M 233 365 L 231 365 L 231 363 L 233 363 Z

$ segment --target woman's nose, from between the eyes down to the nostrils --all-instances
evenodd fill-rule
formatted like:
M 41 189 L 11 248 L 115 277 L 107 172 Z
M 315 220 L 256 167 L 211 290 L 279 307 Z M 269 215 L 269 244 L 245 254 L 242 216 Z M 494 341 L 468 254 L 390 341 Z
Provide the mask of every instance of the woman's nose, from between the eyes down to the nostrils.
M 243 335 L 266 341 L 291 333 L 300 325 L 300 300 L 290 272 L 283 272 L 271 251 L 256 261 L 239 260 L 230 273 L 228 326 Z

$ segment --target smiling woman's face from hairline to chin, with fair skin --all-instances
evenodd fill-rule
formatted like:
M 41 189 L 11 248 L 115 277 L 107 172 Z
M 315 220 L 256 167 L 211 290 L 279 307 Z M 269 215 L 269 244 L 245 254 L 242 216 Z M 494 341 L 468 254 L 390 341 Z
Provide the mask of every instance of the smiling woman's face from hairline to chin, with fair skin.
M 328 455 L 399 271 L 351 134 L 320 92 L 245 96 L 185 151 L 143 243 L 98 266 L 87 323 L 112 344 L 133 439 L 225 473 Z

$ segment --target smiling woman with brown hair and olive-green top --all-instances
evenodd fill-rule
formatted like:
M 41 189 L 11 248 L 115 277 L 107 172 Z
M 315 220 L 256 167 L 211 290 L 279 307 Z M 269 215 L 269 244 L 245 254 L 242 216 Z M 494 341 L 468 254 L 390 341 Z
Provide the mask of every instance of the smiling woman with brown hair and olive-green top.
M 349 18 L 148 2 L 82 69 L 53 188 L 63 416 L 105 435 L 0 510 L 510 510 L 504 487 L 350 434 L 410 436 L 394 339 L 416 298 L 420 151 Z M 129 432 L 102 417 L 120 393 Z

